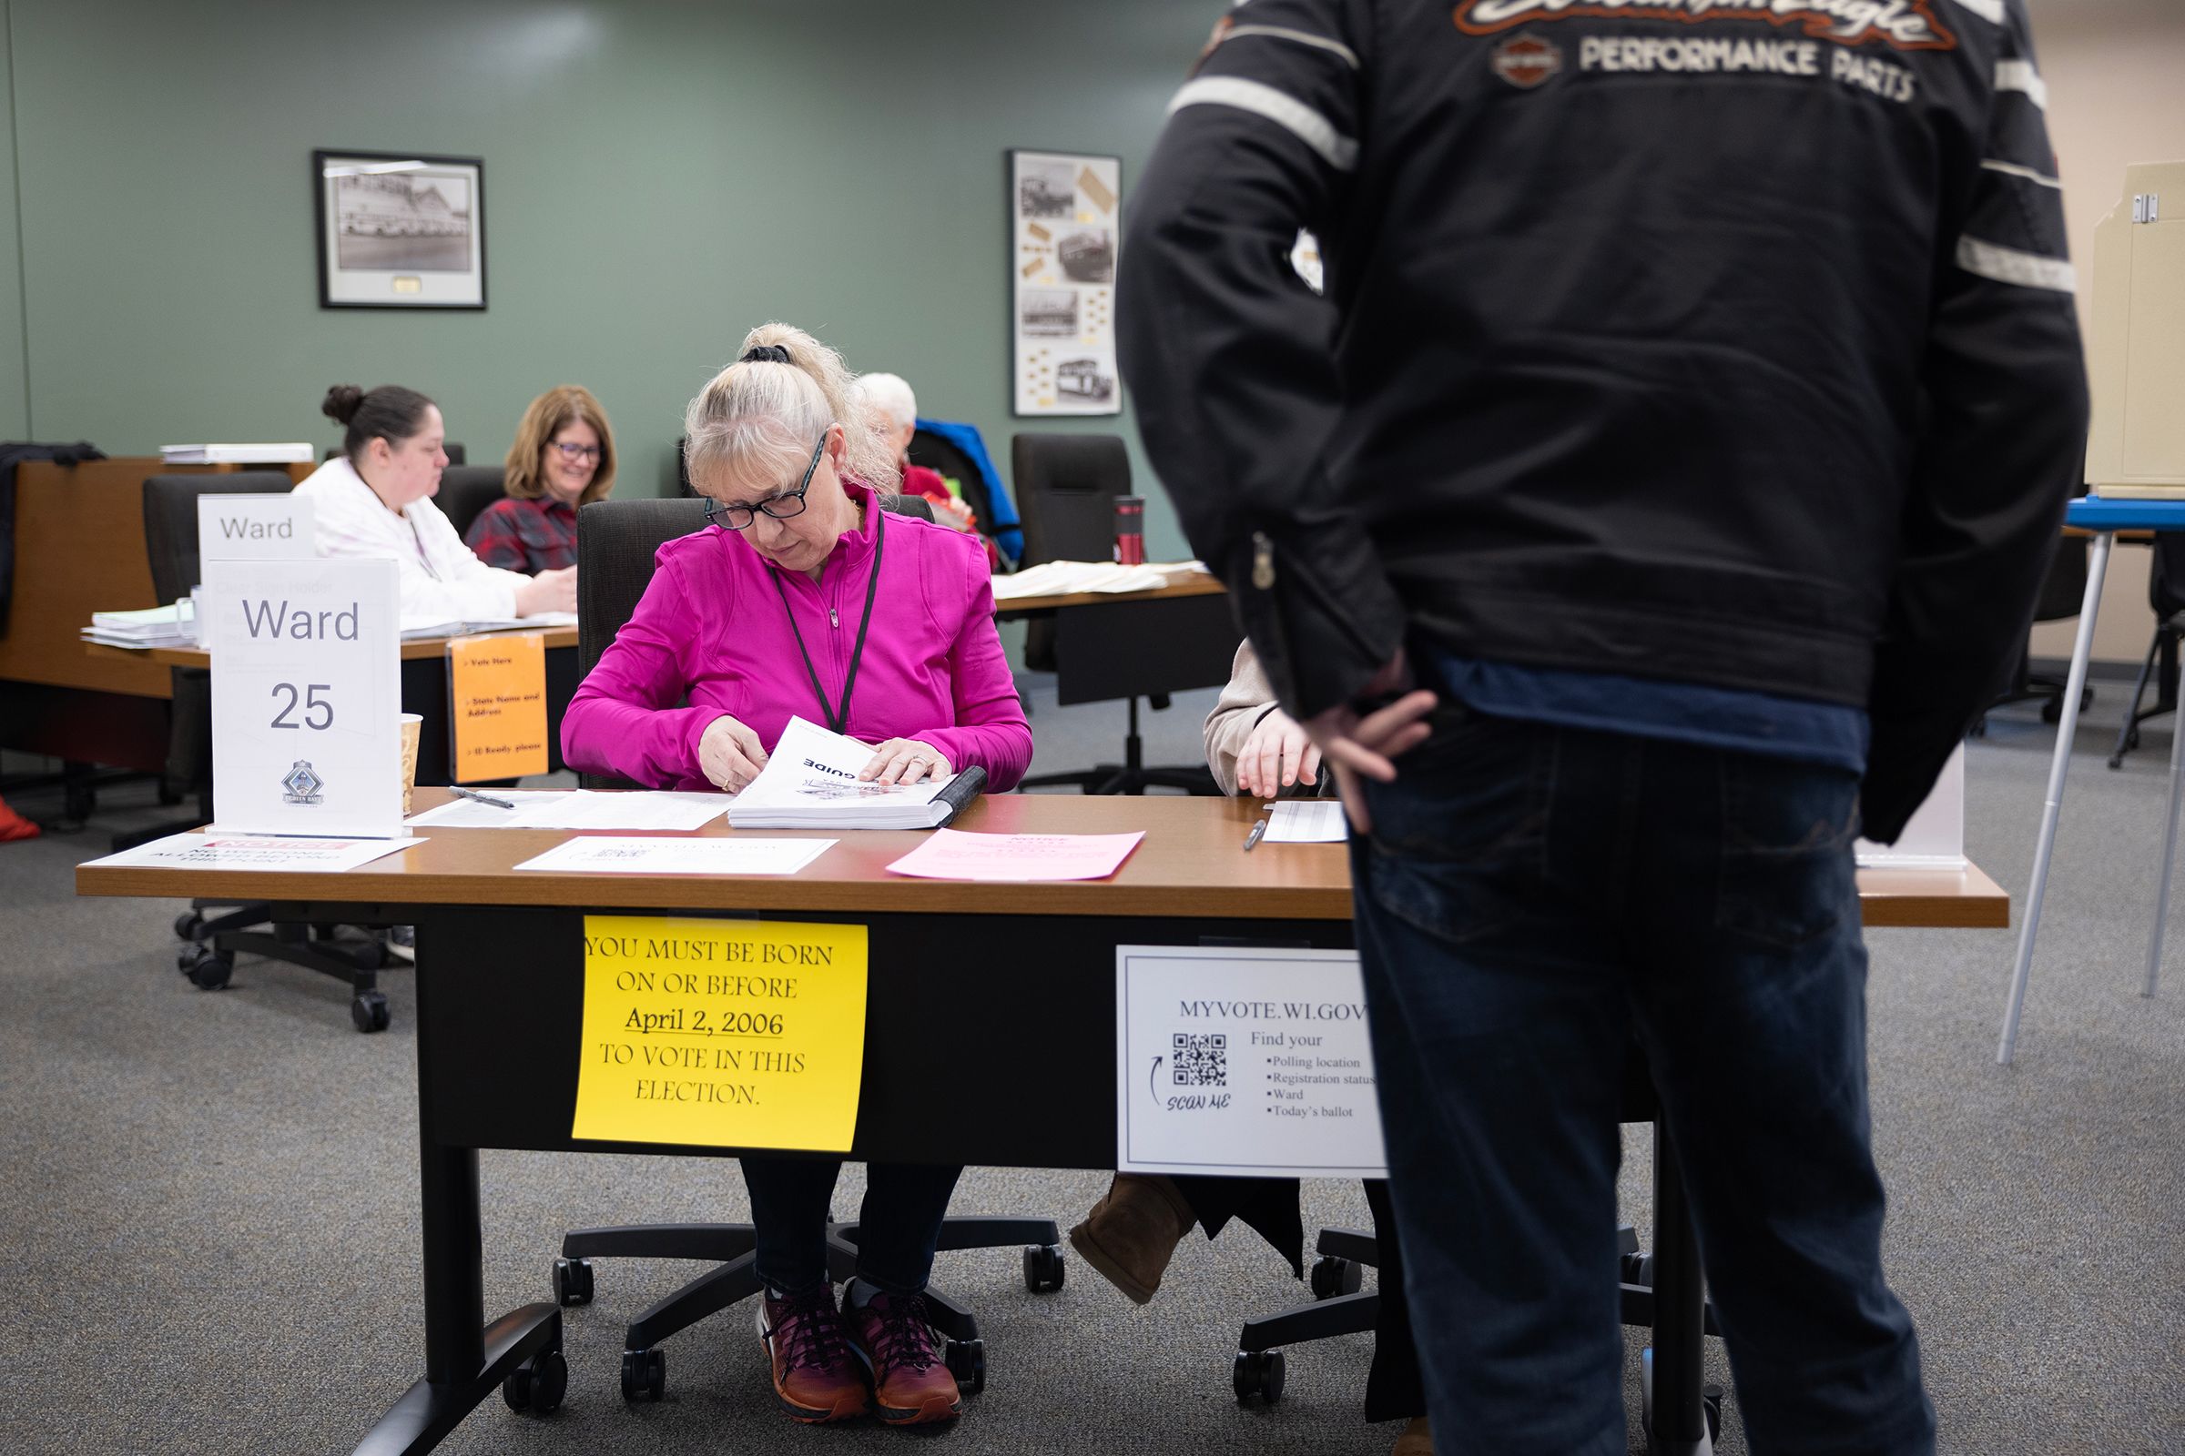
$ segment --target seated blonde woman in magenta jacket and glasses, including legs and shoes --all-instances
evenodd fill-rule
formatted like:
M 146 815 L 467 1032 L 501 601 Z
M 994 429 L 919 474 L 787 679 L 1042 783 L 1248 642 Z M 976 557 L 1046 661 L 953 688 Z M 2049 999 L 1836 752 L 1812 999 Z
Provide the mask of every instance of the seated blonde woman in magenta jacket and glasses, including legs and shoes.
M 994 790 L 1014 788 L 1031 729 L 979 539 L 883 515 L 894 463 L 841 356 L 787 325 L 752 330 L 684 423 L 712 524 L 660 548 L 636 613 L 570 701 L 570 768 L 734 792 L 802 716 L 876 744 L 870 779 L 977 764 Z M 798 1421 L 867 1408 L 946 1421 L 961 1399 L 920 1294 L 961 1168 L 867 1168 L 859 1275 L 837 1310 L 826 1220 L 839 1170 L 743 1159 L 773 1391 Z

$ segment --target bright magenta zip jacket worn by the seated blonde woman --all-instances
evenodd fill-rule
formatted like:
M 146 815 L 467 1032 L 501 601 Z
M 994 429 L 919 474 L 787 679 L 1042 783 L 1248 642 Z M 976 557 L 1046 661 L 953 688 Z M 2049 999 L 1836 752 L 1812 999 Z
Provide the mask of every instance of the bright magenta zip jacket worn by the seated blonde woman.
M 843 487 L 870 500 L 863 487 Z M 776 572 L 721 526 L 662 546 L 636 613 L 562 718 L 568 766 L 658 788 L 710 788 L 697 740 L 721 714 L 758 733 L 767 753 L 791 716 L 826 725 L 776 581 L 828 705 L 841 703 L 881 524 L 881 587 L 843 731 L 865 742 L 922 738 L 957 768 L 985 768 L 992 790 L 1014 788 L 1031 764 L 1031 727 L 994 633 L 979 537 L 907 515 L 865 515 L 863 530 L 835 544 L 817 583 Z

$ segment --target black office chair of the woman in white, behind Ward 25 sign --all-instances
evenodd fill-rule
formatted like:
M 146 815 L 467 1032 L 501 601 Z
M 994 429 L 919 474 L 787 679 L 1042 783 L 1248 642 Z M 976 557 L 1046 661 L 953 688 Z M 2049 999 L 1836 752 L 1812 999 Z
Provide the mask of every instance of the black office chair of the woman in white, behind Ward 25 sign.
M 151 557 L 151 583 L 160 600 L 170 602 L 199 585 L 197 498 L 260 496 L 293 489 L 280 472 L 236 472 L 232 476 L 149 476 L 144 480 L 144 552 Z M 168 740 L 168 777 L 197 792 L 199 812 L 192 821 L 164 825 L 131 836 L 144 843 L 212 821 L 212 672 L 175 668 L 175 725 Z M 116 840 L 120 845 L 120 840 Z M 214 910 L 208 915 L 208 910 Z M 262 930 L 260 930 L 262 926 Z M 356 1030 L 387 1030 L 387 995 L 378 989 L 378 971 L 393 956 L 385 930 L 365 939 L 339 934 L 339 926 L 275 921 L 267 904 L 192 899 L 190 910 L 175 919 L 181 947 L 175 963 L 201 991 L 218 991 L 236 969 L 236 954 L 269 956 L 347 982 L 350 1022 Z

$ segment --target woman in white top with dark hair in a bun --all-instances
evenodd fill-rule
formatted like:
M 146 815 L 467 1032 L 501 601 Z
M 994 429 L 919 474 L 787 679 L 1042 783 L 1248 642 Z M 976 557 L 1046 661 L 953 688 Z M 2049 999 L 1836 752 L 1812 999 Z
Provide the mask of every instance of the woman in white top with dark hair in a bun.
M 336 384 L 319 406 L 347 426 L 341 454 L 315 469 L 308 496 L 321 557 L 393 557 L 402 568 L 402 616 L 481 622 L 577 609 L 577 568 L 505 572 L 454 535 L 430 496 L 448 456 L 439 406 L 415 389 Z

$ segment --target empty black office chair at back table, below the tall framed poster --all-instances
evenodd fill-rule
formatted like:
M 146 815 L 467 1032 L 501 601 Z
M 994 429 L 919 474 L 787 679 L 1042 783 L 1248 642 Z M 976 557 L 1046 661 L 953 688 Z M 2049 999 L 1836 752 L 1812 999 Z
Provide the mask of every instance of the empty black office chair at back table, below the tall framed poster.
M 1114 498 L 1130 493 L 1130 454 L 1119 434 L 1016 434 L 1009 439 L 1009 474 L 1016 478 L 1016 509 L 1025 526 L 1025 565 L 1114 557 Z M 1228 607 L 1219 598 L 1206 600 L 1208 607 L 1197 609 L 1193 629 L 1210 626 L 1213 635 L 1184 631 L 1160 642 L 1101 642 L 1097 635 L 1077 635 L 1075 653 L 1130 659 L 1132 668 L 1151 666 L 1149 655 L 1206 657 L 1215 661 L 1208 681 L 1221 683 L 1228 679 L 1228 661 L 1237 651 L 1237 629 L 1228 622 Z M 1064 622 L 1029 620 L 1025 624 L 1025 666 L 1034 672 L 1064 672 L 1068 657 L 1062 651 L 1064 635 Z M 1134 670 L 1125 670 L 1121 677 L 1132 679 Z M 1095 690 L 1077 699 L 1064 694 L 1062 701 L 1097 701 L 1099 696 L 1108 694 Z M 1158 786 L 1193 795 L 1219 792 L 1204 766 L 1147 768 L 1145 742 L 1138 738 L 1141 694 L 1119 692 L 1114 696 L 1123 696 L 1130 705 L 1123 762 L 1077 773 L 1040 773 L 1025 779 L 1023 788 L 1077 786 L 1095 795 L 1143 795 Z M 1143 696 L 1156 712 L 1171 701 L 1167 692 Z

